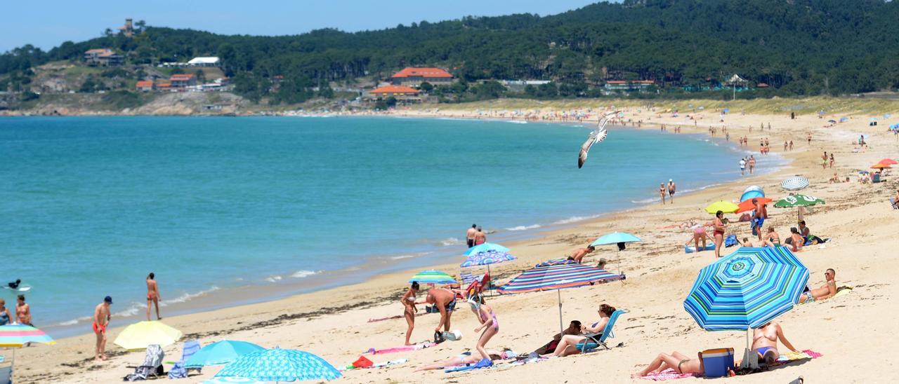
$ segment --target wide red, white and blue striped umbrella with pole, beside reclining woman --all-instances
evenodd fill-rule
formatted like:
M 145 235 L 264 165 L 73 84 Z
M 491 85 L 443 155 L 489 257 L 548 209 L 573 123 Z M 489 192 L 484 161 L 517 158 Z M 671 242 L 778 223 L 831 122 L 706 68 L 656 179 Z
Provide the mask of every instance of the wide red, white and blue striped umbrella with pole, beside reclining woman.
M 565 288 L 620 280 L 621 275 L 610 274 L 605 269 L 585 266 L 574 260 L 556 259 L 540 263 L 515 276 L 509 283 L 497 288 L 500 294 L 556 290 L 559 303 L 559 330 L 562 330 L 562 292 Z

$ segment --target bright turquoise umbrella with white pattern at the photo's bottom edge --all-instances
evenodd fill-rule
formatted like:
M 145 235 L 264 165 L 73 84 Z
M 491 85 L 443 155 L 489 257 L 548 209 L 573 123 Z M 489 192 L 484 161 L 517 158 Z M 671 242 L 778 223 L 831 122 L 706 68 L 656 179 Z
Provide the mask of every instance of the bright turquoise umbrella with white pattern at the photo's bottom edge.
M 216 374 L 217 378 L 260 381 L 334 380 L 341 376 L 333 365 L 315 354 L 280 348 L 246 353 Z

